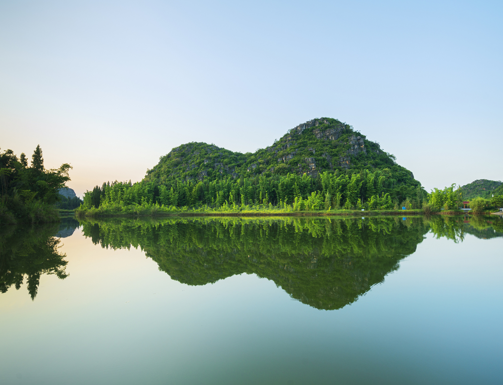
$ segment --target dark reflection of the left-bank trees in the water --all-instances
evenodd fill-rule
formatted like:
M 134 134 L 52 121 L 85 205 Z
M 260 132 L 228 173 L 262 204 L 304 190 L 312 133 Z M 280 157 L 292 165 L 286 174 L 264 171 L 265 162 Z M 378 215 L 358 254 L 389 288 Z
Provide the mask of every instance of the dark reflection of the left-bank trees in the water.
M 40 276 L 56 274 L 64 279 L 67 261 L 59 254 L 60 240 L 52 237 L 58 225 L 5 227 L 0 233 L 0 292 L 14 285 L 19 290 L 26 277 L 28 293 L 37 295 Z

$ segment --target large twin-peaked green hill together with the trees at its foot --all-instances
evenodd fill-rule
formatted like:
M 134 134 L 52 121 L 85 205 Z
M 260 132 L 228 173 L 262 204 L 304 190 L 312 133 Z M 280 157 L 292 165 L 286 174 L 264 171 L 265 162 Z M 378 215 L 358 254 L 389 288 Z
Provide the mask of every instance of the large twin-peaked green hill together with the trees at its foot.
M 165 208 L 293 210 L 421 208 L 428 196 L 412 172 L 336 119 L 301 124 L 255 153 L 188 143 L 162 156 L 137 183 L 87 191 L 82 211 Z

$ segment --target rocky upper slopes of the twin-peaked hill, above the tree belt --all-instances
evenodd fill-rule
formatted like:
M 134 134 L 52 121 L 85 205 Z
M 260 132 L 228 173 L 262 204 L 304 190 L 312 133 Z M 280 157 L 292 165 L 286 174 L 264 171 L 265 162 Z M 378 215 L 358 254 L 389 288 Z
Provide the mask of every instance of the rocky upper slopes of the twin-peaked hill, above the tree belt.
M 242 134 L 243 140 L 247 135 Z M 214 144 L 192 142 L 175 147 L 147 170 L 145 182 L 171 184 L 175 180 L 210 180 L 306 173 L 316 177 L 323 171 L 344 173 L 362 169 L 391 170 L 396 184 L 418 185 L 411 171 L 396 164 L 395 157 L 366 139 L 349 124 L 320 118 L 302 123 L 280 140 L 254 153 L 233 152 Z

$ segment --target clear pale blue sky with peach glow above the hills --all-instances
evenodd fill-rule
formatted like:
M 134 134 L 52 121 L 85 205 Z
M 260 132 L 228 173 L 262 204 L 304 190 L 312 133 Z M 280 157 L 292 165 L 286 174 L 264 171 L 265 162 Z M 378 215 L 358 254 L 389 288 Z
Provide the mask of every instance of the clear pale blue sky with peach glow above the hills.
M 0 1 L 0 147 L 78 196 L 187 142 L 346 122 L 430 191 L 503 179 L 503 3 Z

